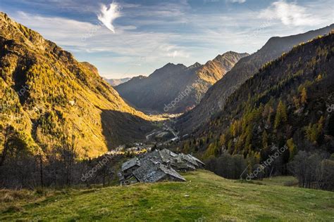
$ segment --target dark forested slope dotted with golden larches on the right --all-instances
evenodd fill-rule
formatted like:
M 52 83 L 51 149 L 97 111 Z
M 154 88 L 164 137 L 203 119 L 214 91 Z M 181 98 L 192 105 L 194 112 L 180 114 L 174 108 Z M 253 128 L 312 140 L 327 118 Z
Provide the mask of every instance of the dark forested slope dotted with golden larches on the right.
M 202 150 L 206 157 L 242 154 L 259 164 L 273 155 L 270 147 L 287 145 L 275 169 L 283 171 L 299 150 L 333 154 L 333 70 L 334 31 L 267 63 L 183 148 Z

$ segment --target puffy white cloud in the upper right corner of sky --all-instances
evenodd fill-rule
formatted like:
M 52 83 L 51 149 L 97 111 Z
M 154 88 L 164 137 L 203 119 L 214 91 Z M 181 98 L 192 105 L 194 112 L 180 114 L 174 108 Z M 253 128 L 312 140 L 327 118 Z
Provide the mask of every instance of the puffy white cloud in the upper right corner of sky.
M 260 18 L 273 18 L 280 20 L 284 25 L 316 25 L 322 22 L 308 12 L 308 8 L 299 6 L 294 2 L 285 0 L 275 1 L 271 6 L 259 14 Z

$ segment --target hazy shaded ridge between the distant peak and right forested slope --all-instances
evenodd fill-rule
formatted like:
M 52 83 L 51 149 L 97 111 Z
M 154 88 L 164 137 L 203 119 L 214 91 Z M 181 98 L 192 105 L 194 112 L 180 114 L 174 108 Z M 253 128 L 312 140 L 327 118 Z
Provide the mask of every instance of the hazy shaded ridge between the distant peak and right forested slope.
M 214 84 L 205 94 L 199 105 L 182 115 L 176 123 L 176 128 L 186 134 L 198 129 L 210 117 L 223 110 L 225 100 L 240 84 L 252 77 L 263 65 L 287 53 L 302 42 L 309 41 L 318 35 L 327 34 L 334 24 L 320 30 L 289 37 L 272 37 L 256 53 L 240 59 L 230 72 Z

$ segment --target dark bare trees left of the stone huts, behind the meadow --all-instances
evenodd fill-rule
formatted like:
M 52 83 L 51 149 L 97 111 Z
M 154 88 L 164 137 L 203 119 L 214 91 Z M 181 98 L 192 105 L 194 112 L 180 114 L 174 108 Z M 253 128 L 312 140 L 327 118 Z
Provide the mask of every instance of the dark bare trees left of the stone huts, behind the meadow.
M 80 153 L 78 139 L 67 127 L 61 131 L 61 143 L 47 152 L 32 152 L 22 133 L 13 126 L 1 130 L 4 131 L 4 148 L 0 158 L 0 188 L 68 188 L 118 183 L 118 166 L 125 157 L 88 158 Z

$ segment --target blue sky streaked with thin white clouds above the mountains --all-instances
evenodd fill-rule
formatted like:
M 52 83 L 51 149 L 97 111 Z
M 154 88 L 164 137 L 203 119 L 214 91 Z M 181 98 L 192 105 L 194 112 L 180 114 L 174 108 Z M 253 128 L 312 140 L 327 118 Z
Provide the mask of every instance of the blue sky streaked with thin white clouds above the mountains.
M 0 0 L 0 11 L 109 79 L 254 53 L 271 37 L 334 22 L 333 0 Z

